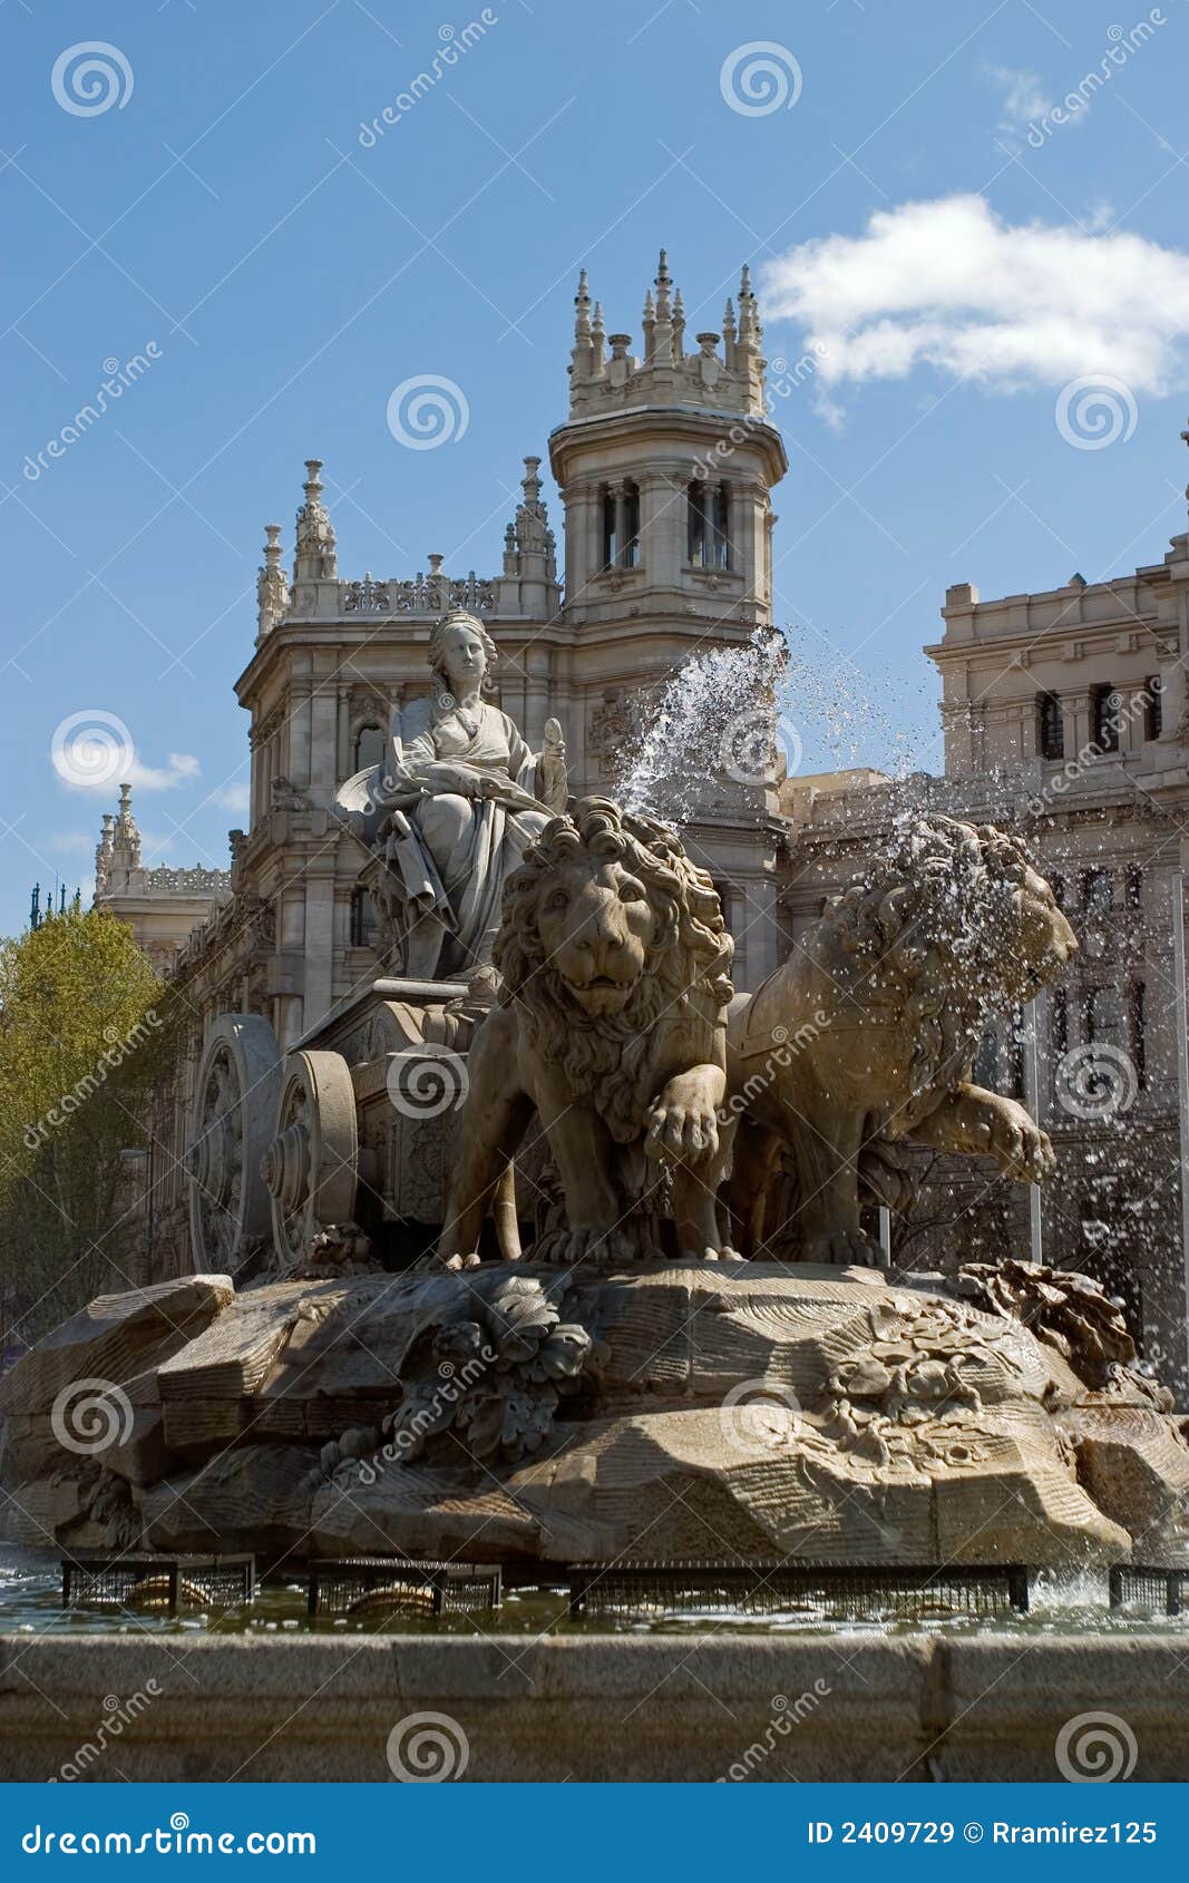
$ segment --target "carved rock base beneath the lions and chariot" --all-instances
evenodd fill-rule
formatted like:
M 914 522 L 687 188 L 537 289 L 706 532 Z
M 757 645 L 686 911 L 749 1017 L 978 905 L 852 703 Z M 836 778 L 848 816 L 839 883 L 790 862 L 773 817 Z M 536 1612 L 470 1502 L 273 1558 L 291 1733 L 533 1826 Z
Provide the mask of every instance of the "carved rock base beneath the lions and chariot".
M 81 1521 L 102 1540 L 119 1482 L 121 1542 L 130 1499 L 143 1546 L 215 1533 L 262 1569 L 386 1550 L 1087 1567 L 1127 1561 L 1132 1538 L 1138 1561 L 1189 1565 L 1180 1424 L 1127 1376 L 1093 1390 L 1016 1320 L 906 1277 L 524 1263 L 211 1294 L 194 1339 L 147 1376 L 130 1344 L 113 1380 L 164 1414 L 136 1469 L 126 1440 L 55 1457 L 57 1371 L 36 1352 L 13 1371 L 38 1442 L 26 1425 L 6 1484 L 36 1540 Z

